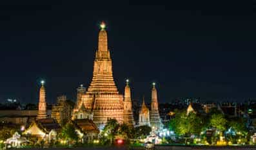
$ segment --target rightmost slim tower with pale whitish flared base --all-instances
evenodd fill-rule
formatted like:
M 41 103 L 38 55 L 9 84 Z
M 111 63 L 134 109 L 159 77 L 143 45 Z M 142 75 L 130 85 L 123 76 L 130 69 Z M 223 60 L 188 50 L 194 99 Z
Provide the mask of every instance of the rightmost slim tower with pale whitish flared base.
M 157 89 L 155 88 L 155 83 L 152 87 L 152 101 L 151 101 L 151 111 L 150 111 L 150 124 L 152 128 L 162 129 L 163 125 L 158 111 L 158 101 L 157 101 Z

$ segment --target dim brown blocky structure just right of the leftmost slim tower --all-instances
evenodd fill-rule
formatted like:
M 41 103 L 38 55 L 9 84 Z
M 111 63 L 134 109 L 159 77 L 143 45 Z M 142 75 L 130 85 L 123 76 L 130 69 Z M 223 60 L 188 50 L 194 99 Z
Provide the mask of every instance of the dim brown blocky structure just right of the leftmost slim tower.
M 63 126 L 68 122 L 72 117 L 73 107 L 66 100 L 66 96 L 57 97 L 57 104 L 52 106 L 52 118 Z

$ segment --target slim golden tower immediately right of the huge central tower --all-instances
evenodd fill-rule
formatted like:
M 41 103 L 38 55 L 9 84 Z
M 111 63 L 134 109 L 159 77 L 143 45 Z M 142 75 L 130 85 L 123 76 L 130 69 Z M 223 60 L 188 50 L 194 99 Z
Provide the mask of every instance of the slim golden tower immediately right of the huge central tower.
M 124 123 L 128 126 L 134 126 L 131 90 L 129 87 L 129 80 L 126 79 L 126 87 L 124 88 Z

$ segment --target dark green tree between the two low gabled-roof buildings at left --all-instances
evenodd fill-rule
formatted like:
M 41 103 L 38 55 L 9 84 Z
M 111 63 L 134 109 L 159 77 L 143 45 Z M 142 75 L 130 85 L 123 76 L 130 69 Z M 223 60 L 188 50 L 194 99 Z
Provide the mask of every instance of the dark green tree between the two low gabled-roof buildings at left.
M 64 140 L 70 141 L 77 141 L 78 135 L 75 131 L 75 127 L 73 124 L 67 123 L 62 129 L 61 129 L 61 135 L 60 138 L 63 138 Z

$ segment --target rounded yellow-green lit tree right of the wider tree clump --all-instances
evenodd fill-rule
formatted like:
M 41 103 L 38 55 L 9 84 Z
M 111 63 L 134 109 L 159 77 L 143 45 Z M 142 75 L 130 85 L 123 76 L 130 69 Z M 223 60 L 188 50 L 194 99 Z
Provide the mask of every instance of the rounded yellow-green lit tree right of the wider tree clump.
M 215 113 L 210 118 L 210 125 L 213 128 L 219 129 L 220 131 L 224 131 L 226 129 L 227 120 L 225 119 L 222 113 Z

